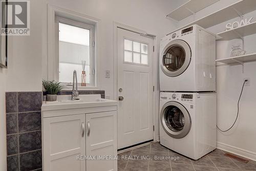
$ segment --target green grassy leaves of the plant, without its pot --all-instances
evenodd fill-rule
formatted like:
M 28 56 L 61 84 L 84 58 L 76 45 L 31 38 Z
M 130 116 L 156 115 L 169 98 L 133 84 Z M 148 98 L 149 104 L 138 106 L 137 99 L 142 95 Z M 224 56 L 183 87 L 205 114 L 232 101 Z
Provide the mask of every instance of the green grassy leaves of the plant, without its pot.
M 61 85 L 61 82 L 57 82 L 55 80 L 42 80 L 42 86 L 44 86 L 47 94 L 58 94 L 64 86 Z

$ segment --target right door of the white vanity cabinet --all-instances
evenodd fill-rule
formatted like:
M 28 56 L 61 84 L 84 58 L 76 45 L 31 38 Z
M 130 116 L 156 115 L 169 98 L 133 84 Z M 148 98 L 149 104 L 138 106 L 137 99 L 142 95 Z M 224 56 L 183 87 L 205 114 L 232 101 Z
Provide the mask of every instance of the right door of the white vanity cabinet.
M 117 112 L 102 112 L 86 115 L 86 155 L 117 155 Z M 117 160 L 87 160 L 88 171 L 117 170 Z

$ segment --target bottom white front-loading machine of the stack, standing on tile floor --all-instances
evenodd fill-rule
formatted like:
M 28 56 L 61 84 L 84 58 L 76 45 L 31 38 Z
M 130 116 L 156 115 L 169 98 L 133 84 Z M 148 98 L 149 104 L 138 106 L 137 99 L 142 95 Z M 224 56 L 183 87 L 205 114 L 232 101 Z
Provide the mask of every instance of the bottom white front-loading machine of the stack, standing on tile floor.
M 160 93 L 160 144 L 197 160 L 216 148 L 215 93 Z

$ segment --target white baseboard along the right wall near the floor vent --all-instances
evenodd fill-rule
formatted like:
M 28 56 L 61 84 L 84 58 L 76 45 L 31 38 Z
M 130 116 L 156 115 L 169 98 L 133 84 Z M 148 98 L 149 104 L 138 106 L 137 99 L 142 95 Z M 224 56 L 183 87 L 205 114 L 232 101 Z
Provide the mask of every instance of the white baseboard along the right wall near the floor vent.
M 247 159 L 256 161 L 256 153 L 247 151 L 246 149 L 242 149 L 236 146 L 228 145 L 222 142 L 217 142 L 217 148 L 222 149 L 223 151 L 233 153 L 235 155 L 245 157 Z

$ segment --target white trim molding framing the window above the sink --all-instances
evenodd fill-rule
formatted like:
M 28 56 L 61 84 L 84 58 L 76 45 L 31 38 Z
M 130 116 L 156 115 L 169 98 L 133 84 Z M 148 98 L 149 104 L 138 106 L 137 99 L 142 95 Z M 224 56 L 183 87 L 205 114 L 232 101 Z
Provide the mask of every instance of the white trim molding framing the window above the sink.
M 77 22 L 82 22 L 82 23 L 87 23 L 90 25 L 94 25 L 95 26 L 95 52 L 94 52 L 94 56 L 95 56 L 95 89 L 99 88 L 99 41 L 98 41 L 98 37 L 100 37 L 99 35 L 99 29 L 97 29 L 100 25 L 100 20 L 97 18 L 93 18 L 81 13 L 77 13 L 74 11 L 70 11 L 67 9 L 63 9 L 63 8 L 59 8 L 56 6 L 52 6 L 50 4 L 48 4 L 48 16 L 47 16 L 47 79 L 52 80 L 52 79 L 56 79 L 58 78 L 58 76 L 56 76 L 56 74 L 58 73 L 58 67 L 56 65 L 56 45 L 55 45 L 55 17 L 59 16 L 59 17 L 64 17 L 64 18 L 68 18 L 68 19 L 72 19 L 72 20 L 76 20 Z M 93 88 L 93 89 L 94 89 Z M 83 88 L 86 89 L 86 88 Z M 92 87 L 90 87 L 89 89 L 92 89 Z

